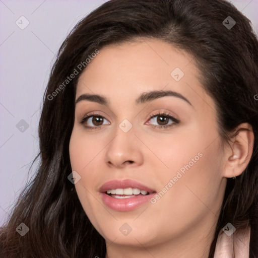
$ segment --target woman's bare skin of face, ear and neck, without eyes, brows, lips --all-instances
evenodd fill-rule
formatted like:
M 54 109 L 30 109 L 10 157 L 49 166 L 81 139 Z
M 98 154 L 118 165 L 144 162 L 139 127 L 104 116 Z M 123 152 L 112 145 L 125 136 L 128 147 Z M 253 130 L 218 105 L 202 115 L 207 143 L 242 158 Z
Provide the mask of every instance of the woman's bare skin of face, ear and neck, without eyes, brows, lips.
M 178 82 L 170 75 L 175 68 L 184 73 Z M 199 75 L 189 54 L 160 40 L 139 39 L 100 49 L 80 76 L 76 99 L 89 93 L 109 101 L 108 106 L 79 101 L 70 140 L 72 169 L 81 176 L 76 191 L 106 240 L 106 257 L 208 257 L 226 178 L 239 175 L 248 164 L 253 134 L 246 130 L 248 124 L 241 124 L 239 134 L 222 149 L 216 107 Z M 175 96 L 136 105 L 141 93 L 154 90 L 180 93 L 191 105 Z M 160 116 L 150 120 L 158 111 L 180 122 L 154 128 L 162 125 Z M 101 128 L 91 118 L 80 123 L 89 113 L 104 117 Z M 133 125 L 127 133 L 119 128 L 124 119 Z M 155 204 L 121 212 L 102 202 L 98 189 L 112 179 L 130 178 L 161 191 L 198 153 L 202 157 Z M 126 236 L 119 230 L 124 223 L 132 228 Z

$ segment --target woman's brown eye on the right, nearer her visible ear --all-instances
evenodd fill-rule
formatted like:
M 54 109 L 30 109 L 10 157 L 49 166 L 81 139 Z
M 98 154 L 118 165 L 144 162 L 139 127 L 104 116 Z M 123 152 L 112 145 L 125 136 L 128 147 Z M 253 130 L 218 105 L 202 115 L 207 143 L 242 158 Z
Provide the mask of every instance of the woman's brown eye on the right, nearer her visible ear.
M 170 123 L 169 123 L 170 120 Z M 179 123 L 179 120 L 173 117 L 172 115 L 166 112 L 159 112 L 151 116 L 151 119 L 148 120 L 147 124 L 153 124 L 154 128 L 167 128 L 173 126 L 174 124 Z M 156 123 L 156 124 L 155 124 Z

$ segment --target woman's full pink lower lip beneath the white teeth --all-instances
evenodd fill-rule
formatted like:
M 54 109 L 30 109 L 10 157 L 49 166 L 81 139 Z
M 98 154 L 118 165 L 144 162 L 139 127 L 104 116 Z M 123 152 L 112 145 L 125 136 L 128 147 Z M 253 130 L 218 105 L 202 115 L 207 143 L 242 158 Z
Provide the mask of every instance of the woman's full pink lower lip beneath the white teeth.
M 116 199 L 114 197 L 110 197 L 106 193 L 101 193 L 102 200 L 104 204 L 112 210 L 116 211 L 132 211 L 137 209 L 139 206 L 149 202 L 149 200 L 155 196 L 154 193 L 150 193 L 149 195 L 143 196 L 138 195 L 136 197 L 125 198 L 125 199 Z

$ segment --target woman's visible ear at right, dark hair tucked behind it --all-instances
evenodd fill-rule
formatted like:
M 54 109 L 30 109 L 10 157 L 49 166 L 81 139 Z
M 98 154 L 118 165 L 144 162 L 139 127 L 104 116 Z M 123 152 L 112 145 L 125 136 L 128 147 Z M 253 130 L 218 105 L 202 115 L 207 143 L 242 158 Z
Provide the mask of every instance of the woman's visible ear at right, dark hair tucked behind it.
M 239 124 L 234 133 L 224 152 L 224 177 L 240 175 L 247 167 L 253 151 L 254 135 L 249 123 Z

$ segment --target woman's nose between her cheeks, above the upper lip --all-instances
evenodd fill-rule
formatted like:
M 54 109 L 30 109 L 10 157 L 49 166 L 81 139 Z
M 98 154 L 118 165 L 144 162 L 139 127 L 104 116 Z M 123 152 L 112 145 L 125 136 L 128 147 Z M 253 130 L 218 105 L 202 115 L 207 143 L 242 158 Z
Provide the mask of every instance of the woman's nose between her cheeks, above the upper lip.
M 133 128 L 127 133 L 124 133 L 118 128 L 116 136 L 106 148 L 106 164 L 113 168 L 142 165 L 143 153 L 140 143 L 134 134 Z

